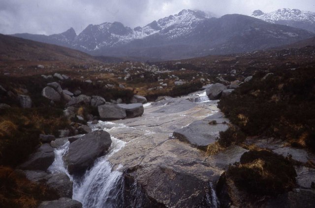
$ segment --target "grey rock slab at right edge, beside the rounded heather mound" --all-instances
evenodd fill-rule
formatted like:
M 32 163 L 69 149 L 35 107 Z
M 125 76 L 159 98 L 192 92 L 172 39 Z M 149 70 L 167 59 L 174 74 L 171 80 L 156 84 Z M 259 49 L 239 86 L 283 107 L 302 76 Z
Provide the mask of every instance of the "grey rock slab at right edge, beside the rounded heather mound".
M 312 182 L 315 182 L 315 169 L 304 166 L 295 166 L 297 174 L 296 182 L 301 188 L 311 188 Z

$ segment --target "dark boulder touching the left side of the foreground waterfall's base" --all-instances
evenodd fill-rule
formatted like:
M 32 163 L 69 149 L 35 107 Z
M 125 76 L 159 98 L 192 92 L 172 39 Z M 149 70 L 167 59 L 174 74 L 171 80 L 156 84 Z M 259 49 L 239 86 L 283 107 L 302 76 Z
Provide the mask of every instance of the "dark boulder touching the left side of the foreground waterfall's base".
M 57 191 L 59 197 L 72 198 L 73 182 L 65 173 L 50 174 L 44 179 L 48 187 Z

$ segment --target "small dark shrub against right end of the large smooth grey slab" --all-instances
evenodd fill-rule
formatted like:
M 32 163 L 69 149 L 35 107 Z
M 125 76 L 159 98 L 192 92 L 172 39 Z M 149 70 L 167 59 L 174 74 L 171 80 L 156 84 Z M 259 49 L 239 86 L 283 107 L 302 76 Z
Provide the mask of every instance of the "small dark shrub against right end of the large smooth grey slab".
M 236 129 L 236 127 L 229 127 L 226 131 L 220 131 L 220 138 L 218 140 L 222 147 L 228 147 L 232 143 L 240 144 L 246 139 L 245 134 Z

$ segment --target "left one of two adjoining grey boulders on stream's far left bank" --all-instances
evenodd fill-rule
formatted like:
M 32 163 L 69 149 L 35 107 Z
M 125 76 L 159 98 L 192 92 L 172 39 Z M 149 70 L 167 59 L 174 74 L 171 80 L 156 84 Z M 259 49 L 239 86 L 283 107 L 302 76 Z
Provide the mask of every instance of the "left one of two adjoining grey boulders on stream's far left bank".
M 118 105 L 108 104 L 100 105 L 97 107 L 98 114 L 101 119 L 125 119 L 126 118 L 126 110 Z

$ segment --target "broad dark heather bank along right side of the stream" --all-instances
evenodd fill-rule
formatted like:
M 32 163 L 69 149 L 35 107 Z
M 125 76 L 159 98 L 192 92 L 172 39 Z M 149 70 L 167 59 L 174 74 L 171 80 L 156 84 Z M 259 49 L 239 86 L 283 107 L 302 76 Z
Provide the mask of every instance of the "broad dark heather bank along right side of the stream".
M 292 146 L 315 151 L 315 70 L 277 70 L 262 79 L 258 72 L 219 108 L 249 136 L 282 138 Z

